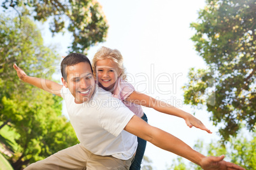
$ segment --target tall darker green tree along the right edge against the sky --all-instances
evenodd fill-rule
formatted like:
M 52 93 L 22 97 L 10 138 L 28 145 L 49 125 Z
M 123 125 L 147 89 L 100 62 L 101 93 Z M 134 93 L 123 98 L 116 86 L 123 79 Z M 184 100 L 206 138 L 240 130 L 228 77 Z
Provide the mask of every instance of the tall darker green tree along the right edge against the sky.
M 199 11 L 192 41 L 208 69 L 190 69 L 185 103 L 206 105 L 223 141 L 236 136 L 241 123 L 256 126 L 256 56 L 253 0 L 207 0 Z

